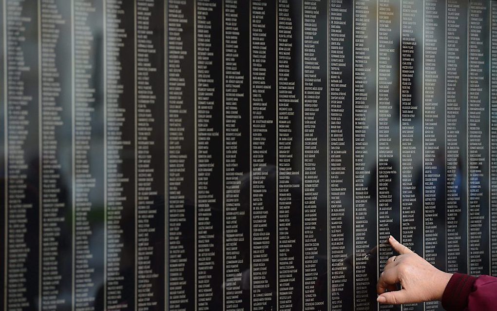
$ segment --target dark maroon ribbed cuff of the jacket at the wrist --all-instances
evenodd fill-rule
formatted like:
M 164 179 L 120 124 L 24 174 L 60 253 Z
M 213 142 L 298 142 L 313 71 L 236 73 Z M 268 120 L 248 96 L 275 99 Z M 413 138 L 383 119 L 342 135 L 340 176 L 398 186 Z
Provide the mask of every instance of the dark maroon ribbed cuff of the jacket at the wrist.
M 468 296 L 475 281 L 475 277 L 454 273 L 443 292 L 442 307 L 447 311 L 464 310 L 468 306 Z

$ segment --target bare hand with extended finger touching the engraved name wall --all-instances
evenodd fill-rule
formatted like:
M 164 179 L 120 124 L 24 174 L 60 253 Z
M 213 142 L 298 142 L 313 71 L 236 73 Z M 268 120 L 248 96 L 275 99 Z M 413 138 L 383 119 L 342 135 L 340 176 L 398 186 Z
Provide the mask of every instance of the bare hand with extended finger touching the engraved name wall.
M 400 255 L 387 260 L 376 284 L 380 295 L 377 301 L 380 304 L 400 305 L 441 300 L 452 274 L 433 267 L 393 236 L 389 237 L 388 242 Z M 402 289 L 397 291 L 396 284 L 399 283 Z

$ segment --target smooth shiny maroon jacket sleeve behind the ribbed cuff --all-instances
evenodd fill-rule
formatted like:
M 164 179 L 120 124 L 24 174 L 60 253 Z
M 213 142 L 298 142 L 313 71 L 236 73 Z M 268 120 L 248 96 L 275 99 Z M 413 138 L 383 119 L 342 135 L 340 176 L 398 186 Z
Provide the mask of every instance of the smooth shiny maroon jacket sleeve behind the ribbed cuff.
M 482 275 L 476 279 L 468 297 L 468 311 L 495 310 L 497 307 L 497 278 Z

